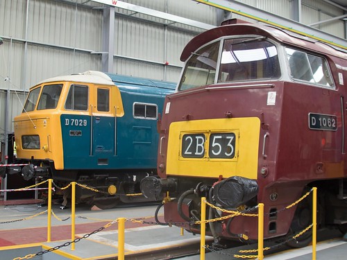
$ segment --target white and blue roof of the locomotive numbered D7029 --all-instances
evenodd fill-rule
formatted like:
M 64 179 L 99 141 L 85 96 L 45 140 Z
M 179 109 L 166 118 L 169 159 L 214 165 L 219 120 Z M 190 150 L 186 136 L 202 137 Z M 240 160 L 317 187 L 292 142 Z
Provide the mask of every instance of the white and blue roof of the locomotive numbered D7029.
M 132 76 L 121 76 L 112 73 L 103 73 L 101 71 L 85 71 L 83 73 L 71 74 L 66 76 L 56 76 L 47 78 L 40 81 L 37 85 L 42 83 L 49 83 L 53 81 L 74 81 L 78 83 L 93 83 L 100 85 L 123 85 L 123 86 L 137 86 L 137 87 L 156 87 L 162 89 L 176 89 L 176 83 L 169 83 L 161 80 L 150 80 L 147 78 L 136 78 Z

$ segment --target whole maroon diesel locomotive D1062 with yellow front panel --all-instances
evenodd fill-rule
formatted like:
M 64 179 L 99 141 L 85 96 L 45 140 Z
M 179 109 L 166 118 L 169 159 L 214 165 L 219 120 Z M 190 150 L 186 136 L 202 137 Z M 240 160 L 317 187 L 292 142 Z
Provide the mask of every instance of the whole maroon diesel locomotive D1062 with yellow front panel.
M 145 196 L 167 223 L 192 232 L 201 197 L 223 209 L 264 203 L 264 239 L 301 232 L 318 188 L 320 227 L 347 229 L 347 53 L 272 26 L 226 24 L 194 37 L 180 57 L 180 83 L 158 122 L 158 174 Z M 312 197 L 311 197 L 312 198 Z M 283 210 L 285 209 L 285 210 Z M 254 210 L 257 213 L 256 210 Z M 208 210 L 208 218 L 227 214 Z M 257 239 L 257 218 L 206 225 L 215 239 Z M 310 232 L 289 244 L 310 243 Z

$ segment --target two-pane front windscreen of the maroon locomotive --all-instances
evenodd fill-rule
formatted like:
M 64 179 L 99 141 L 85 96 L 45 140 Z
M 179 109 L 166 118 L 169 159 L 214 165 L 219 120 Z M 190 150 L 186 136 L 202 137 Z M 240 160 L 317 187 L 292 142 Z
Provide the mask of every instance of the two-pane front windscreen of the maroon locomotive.
M 192 53 L 178 91 L 214 84 L 216 73 L 216 83 L 280 78 L 276 46 L 265 37 L 234 37 L 222 41 L 221 50 L 218 41 Z

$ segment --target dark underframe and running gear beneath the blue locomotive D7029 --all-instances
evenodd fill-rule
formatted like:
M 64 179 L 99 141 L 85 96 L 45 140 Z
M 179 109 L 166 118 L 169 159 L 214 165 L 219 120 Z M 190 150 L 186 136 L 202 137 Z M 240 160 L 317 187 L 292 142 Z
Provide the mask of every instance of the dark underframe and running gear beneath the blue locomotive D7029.
M 51 160 L 32 160 L 28 166 L 24 167 L 26 168 L 22 169 L 22 174 L 26 173 L 26 179 L 32 177 L 39 179 L 51 178 L 54 184 L 60 188 L 67 186 L 70 182 L 87 185 L 92 189 L 76 186 L 76 202 L 88 202 L 90 204 L 99 202 L 97 204 L 105 208 L 108 205 L 107 200 L 110 200 L 112 204 L 115 199 L 126 203 L 149 201 L 149 199 L 141 196 L 139 184 L 144 177 L 156 175 L 155 169 L 58 171 Z M 110 189 L 115 193 L 110 192 Z M 134 196 L 134 194 L 137 195 Z

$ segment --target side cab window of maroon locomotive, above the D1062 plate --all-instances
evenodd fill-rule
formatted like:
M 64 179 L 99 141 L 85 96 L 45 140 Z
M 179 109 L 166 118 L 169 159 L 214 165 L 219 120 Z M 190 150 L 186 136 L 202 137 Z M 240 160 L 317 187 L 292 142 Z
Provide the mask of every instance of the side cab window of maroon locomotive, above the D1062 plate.
M 286 53 L 291 78 L 324 87 L 334 87 L 328 62 L 324 58 L 291 48 L 286 48 Z

